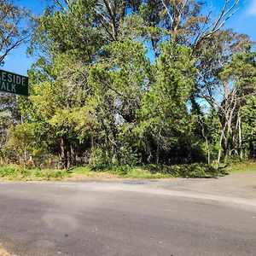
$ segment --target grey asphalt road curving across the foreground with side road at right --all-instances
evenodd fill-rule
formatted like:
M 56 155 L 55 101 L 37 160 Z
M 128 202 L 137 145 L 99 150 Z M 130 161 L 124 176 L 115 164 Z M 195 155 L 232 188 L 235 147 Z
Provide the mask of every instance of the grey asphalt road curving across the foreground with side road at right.
M 256 255 L 256 173 L 218 179 L 0 183 L 17 255 Z

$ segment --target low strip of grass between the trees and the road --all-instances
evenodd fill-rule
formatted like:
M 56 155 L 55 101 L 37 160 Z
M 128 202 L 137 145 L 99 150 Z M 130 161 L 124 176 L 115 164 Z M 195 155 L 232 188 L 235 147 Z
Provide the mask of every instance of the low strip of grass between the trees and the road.
M 0 167 L 0 179 L 13 181 L 43 181 L 43 180 L 83 180 L 86 178 L 171 178 L 171 177 L 217 177 L 227 174 L 203 164 L 176 166 L 111 166 L 104 170 L 92 170 L 90 166 L 79 166 L 60 170 L 25 169 L 20 166 Z

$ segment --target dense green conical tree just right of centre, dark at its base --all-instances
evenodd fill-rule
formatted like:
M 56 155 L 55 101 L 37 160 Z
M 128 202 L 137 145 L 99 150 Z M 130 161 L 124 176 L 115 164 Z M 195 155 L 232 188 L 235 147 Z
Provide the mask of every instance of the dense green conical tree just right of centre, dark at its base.
M 160 153 L 168 154 L 170 149 L 178 147 L 182 137 L 189 137 L 187 102 L 195 75 L 189 48 L 172 41 L 162 44 L 159 61 L 154 67 L 155 81 L 143 94 L 139 113 L 142 144 L 148 161 L 153 158 L 158 164 Z

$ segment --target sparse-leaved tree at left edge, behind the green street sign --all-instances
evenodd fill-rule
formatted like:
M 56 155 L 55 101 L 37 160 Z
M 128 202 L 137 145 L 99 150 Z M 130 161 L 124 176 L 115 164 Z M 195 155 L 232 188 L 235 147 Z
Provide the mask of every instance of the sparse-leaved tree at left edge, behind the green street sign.
M 0 66 L 9 53 L 29 38 L 29 12 L 14 1 L 0 1 Z M 20 121 L 17 98 L 0 92 L 0 148 L 7 140 L 8 129 Z

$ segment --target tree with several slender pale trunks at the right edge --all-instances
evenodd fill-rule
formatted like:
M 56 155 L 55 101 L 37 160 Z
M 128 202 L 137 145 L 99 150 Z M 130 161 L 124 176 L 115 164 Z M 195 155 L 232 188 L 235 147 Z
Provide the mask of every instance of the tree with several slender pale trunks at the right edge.
M 247 45 L 244 52 L 232 56 L 220 77 L 224 82 L 224 90 L 220 90 L 223 95 L 223 104 L 219 108 L 223 116 L 220 146 L 224 143 L 226 159 L 233 153 L 239 154 L 242 158 L 241 108 L 247 98 L 255 94 L 256 52 L 252 52 L 251 47 Z

